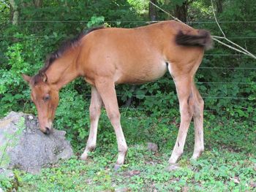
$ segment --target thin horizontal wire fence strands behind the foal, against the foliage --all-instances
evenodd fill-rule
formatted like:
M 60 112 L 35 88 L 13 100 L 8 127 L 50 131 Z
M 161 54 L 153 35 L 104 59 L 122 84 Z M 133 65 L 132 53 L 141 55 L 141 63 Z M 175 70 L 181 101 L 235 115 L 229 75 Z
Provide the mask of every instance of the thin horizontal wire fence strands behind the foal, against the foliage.
M 12 20 L 0 20 L 0 22 L 11 23 Z M 19 23 L 88 23 L 89 20 L 18 20 Z M 106 23 L 152 23 L 151 21 L 145 20 L 106 20 Z M 189 21 L 188 24 L 196 24 L 196 23 L 216 23 L 213 21 Z M 219 21 L 219 23 L 256 23 L 256 20 L 241 20 L 241 21 Z M 45 35 L 45 36 L 37 36 L 34 34 L 27 34 L 26 36 L 19 37 L 19 35 L 1 35 L 0 38 L 17 38 L 17 39 L 31 39 L 31 38 L 59 38 L 58 36 Z M 73 36 L 69 37 L 61 37 L 64 39 L 73 38 Z M 256 39 L 256 37 L 227 37 L 228 39 Z M 206 57 L 248 57 L 248 55 L 241 54 L 205 54 Z M 256 67 L 218 67 L 218 66 L 200 66 L 199 69 L 233 69 L 233 70 L 255 70 Z M 174 82 L 173 82 L 174 83 Z M 255 85 L 256 82 L 195 82 L 199 85 L 211 85 L 211 84 L 220 84 L 220 85 Z M 91 97 L 91 95 L 85 95 L 86 97 Z M 117 95 L 118 97 L 122 97 L 123 95 Z M 129 97 L 136 98 L 146 98 L 146 97 L 155 97 L 159 98 L 159 96 L 154 95 L 132 95 Z M 167 97 L 167 96 L 164 96 Z M 234 100 L 252 100 L 252 98 L 248 97 L 236 97 L 236 96 L 202 96 L 203 99 L 234 99 Z M 254 99 L 255 100 L 255 99 Z M 121 107 L 120 110 L 127 110 L 127 108 Z M 138 108 L 129 108 L 129 110 L 143 110 Z M 222 111 L 222 110 L 220 110 Z M 253 110 L 255 111 L 255 110 Z M 217 110 L 205 110 L 205 112 L 217 112 Z M 225 110 L 224 110 L 225 112 Z

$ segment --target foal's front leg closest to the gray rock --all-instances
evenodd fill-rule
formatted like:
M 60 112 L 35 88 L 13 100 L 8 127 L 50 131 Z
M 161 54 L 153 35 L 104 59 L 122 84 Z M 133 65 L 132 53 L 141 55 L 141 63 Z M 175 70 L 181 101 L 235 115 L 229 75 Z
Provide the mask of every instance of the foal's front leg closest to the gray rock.
M 99 116 L 102 107 L 102 99 L 99 96 L 99 93 L 95 87 L 91 87 L 91 104 L 90 104 L 90 133 L 89 138 L 86 144 L 86 150 L 84 150 L 83 154 L 80 156 L 82 160 L 86 160 L 88 158 L 88 153 L 93 151 L 96 147 L 97 142 L 97 128 L 99 123 Z

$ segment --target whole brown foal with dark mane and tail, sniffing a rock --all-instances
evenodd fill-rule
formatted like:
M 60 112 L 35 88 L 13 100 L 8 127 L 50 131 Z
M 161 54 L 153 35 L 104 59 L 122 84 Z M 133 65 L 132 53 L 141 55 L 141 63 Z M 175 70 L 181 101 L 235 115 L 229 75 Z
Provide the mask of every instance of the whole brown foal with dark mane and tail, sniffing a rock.
M 169 159 L 176 164 L 184 150 L 189 124 L 194 118 L 195 150 L 198 158 L 203 145 L 203 99 L 197 91 L 194 75 L 205 49 L 211 47 L 211 35 L 176 21 L 164 21 L 139 28 L 94 28 L 50 55 L 34 77 L 23 74 L 31 87 L 31 99 L 37 107 L 42 132 L 50 134 L 59 90 L 76 77 L 91 85 L 91 127 L 81 158 L 96 147 L 97 126 L 102 103 L 116 132 L 118 159 L 124 164 L 127 143 L 120 123 L 115 85 L 150 82 L 170 72 L 178 94 L 181 124 L 176 145 Z

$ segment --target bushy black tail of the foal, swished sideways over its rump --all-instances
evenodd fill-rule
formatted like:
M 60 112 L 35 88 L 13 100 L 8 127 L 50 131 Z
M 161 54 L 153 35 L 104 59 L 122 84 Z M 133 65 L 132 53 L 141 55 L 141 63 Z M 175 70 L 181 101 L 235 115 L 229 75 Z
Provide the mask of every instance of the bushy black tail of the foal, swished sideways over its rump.
M 203 29 L 198 30 L 197 35 L 184 34 L 182 31 L 179 31 L 176 35 L 176 43 L 184 46 L 203 47 L 205 50 L 213 47 L 210 32 Z

